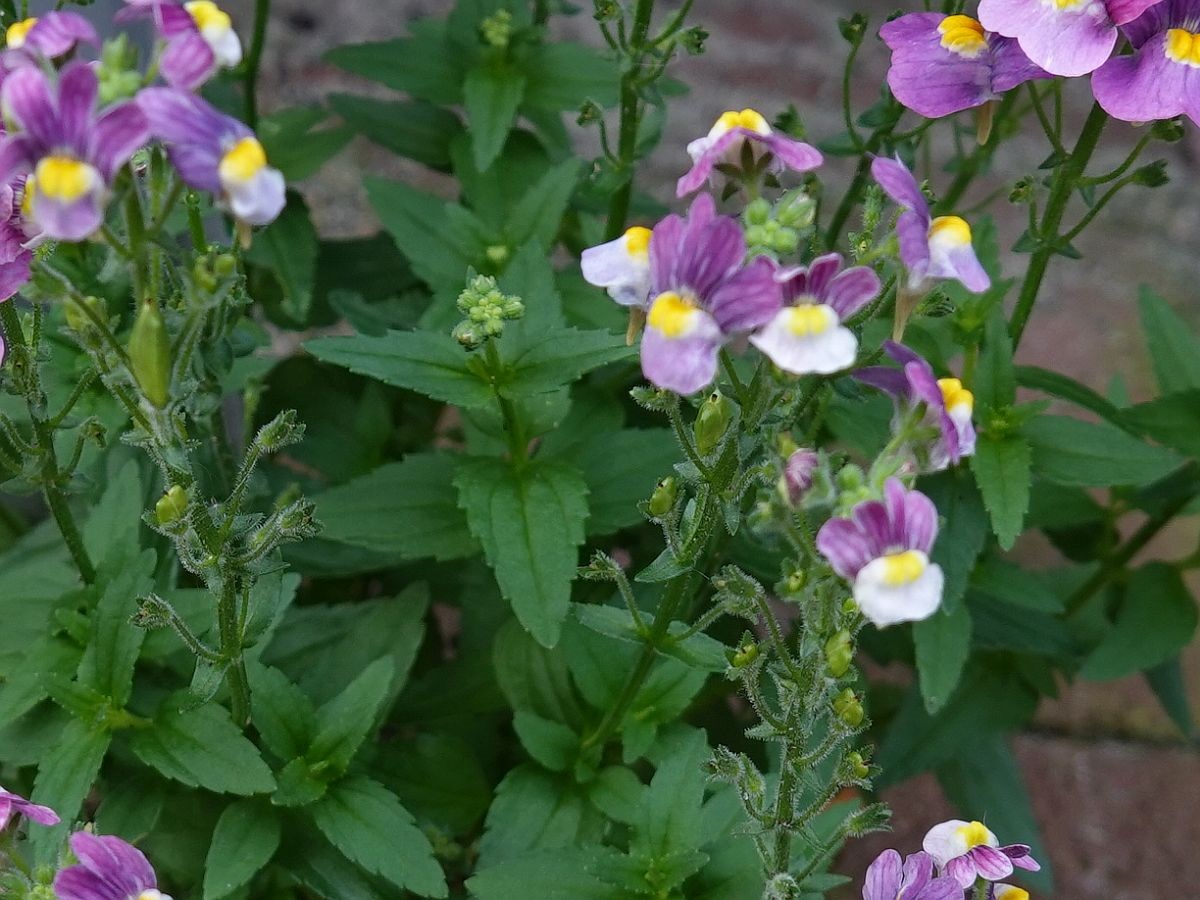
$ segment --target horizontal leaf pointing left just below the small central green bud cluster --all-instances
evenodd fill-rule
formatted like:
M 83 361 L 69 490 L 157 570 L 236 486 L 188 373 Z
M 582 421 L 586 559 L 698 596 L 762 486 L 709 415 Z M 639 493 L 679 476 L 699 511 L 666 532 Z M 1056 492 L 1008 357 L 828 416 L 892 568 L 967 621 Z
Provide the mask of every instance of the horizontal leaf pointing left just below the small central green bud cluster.
M 320 337 L 305 349 L 317 359 L 444 403 L 470 408 L 494 401 L 492 386 L 468 368 L 466 350 L 450 335 L 389 331 L 384 337 Z

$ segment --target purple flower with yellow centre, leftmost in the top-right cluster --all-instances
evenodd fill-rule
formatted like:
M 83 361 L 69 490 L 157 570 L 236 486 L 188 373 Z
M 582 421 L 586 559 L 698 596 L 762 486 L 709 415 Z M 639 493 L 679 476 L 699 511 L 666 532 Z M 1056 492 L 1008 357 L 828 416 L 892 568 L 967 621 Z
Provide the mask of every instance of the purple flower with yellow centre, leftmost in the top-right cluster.
M 914 12 L 888 22 L 880 37 L 892 49 L 888 86 L 928 119 L 983 106 L 1030 79 L 1050 78 L 1016 41 L 988 34 L 970 16 Z

